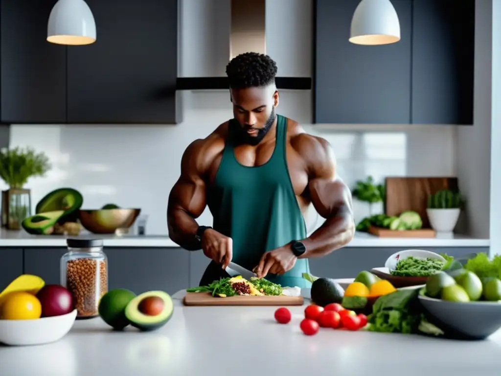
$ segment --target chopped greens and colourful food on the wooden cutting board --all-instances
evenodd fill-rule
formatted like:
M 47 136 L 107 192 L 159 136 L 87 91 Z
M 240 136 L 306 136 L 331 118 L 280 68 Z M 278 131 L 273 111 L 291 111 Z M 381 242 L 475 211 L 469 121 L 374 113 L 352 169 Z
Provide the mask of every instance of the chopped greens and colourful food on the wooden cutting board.
M 251 277 L 250 281 L 247 281 L 242 276 L 221 278 L 207 286 L 188 288 L 186 292 L 210 292 L 212 296 L 222 298 L 235 295 L 297 295 L 296 288 L 282 287 L 264 278 Z

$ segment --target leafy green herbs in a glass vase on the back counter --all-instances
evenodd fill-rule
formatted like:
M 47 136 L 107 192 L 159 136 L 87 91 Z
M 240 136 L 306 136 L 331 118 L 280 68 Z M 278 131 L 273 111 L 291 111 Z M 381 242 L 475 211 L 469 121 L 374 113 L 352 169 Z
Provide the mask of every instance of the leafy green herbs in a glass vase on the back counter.
M 21 222 L 31 216 L 30 190 L 24 185 L 30 177 L 44 176 L 50 168 L 49 158 L 31 147 L 0 150 L 0 178 L 9 185 L 2 191 L 2 227 L 21 229 Z

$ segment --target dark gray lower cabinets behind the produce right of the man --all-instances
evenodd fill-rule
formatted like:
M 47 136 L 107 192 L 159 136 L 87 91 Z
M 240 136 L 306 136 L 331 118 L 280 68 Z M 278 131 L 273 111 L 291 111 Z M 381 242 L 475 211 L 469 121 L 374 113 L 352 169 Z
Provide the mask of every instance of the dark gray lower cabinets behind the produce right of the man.
M 409 247 L 345 247 L 325 257 L 309 259 L 310 271 L 311 274 L 319 277 L 355 278 L 362 270 L 384 267 L 384 263 L 388 257 L 395 252 L 405 249 L 409 249 Z M 488 247 L 419 247 L 419 249 L 436 253 L 446 253 L 454 257 L 473 252 L 485 252 L 487 254 L 489 252 Z

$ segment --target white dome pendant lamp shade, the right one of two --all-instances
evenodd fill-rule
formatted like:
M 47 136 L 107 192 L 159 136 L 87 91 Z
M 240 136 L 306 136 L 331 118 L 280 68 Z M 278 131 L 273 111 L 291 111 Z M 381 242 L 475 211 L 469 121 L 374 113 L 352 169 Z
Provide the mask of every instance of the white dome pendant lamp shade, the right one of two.
M 400 40 L 400 23 L 390 0 L 362 0 L 351 20 L 350 42 L 386 45 Z

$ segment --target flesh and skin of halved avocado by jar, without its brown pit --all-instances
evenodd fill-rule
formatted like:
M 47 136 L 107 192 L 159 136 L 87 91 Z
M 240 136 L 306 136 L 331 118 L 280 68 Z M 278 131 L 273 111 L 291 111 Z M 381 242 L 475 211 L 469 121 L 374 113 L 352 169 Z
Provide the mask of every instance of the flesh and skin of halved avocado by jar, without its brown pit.
M 147 298 L 159 298 L 163 301 L 162 310 L 156 315 L 144 314 L 140 311 L 141 303 Z M 164 326 L 174 313 L 174 303 L 164 291 L 147 291 L 132 299 L 125 307 L 125 317 L 130 324 L 142 331 L 156 330 Z

